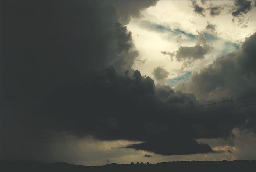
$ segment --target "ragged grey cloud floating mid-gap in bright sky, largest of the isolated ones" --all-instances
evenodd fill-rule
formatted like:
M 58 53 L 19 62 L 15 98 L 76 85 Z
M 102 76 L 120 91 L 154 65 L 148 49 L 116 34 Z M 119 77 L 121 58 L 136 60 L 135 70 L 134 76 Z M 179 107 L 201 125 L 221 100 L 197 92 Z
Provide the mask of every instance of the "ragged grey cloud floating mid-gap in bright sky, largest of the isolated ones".
M 205 54 L 207 54 L 211 49 L 213 49 L 213 47 L 207 44 L 203 34 L 198 32 L 198 40 L 195 46 L 180 46 L 179 49 L 173 53 L 166 51 L 161 51 L 161 53 L 170 56 L 171 59 L 173 59 L 175 56 L 177 61 L 183 62 L 182 68 L 186 68 L 189 67 L 195 60 L 205 58 Z

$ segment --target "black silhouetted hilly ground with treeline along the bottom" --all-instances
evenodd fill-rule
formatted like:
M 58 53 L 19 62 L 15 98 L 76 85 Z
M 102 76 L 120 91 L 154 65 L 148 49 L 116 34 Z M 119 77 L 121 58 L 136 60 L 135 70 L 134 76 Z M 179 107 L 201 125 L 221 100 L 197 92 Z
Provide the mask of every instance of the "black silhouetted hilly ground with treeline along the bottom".
M 0 171 L 14 172 L 234 172 L 234 171 L 256 171 L 256 161 L 183 161 L 163 162 L 157 164 L 107 164 L 104 166 L 81 166 L 67 163 L 45 164 L 32 161 L 5 161 L 0 160 Z

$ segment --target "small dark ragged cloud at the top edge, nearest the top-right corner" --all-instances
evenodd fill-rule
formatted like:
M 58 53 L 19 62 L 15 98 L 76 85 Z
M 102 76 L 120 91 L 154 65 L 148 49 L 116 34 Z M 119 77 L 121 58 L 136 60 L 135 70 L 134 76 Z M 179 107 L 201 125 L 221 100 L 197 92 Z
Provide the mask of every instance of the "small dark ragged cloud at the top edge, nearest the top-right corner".
M 247 0 L 236 0 L 234 4 L 237 9 L 236 11 L 232 12 L 232 15 L 236 17 L 238 15 L 246 14 L 252 8 L 251 3 L 251 1 Z

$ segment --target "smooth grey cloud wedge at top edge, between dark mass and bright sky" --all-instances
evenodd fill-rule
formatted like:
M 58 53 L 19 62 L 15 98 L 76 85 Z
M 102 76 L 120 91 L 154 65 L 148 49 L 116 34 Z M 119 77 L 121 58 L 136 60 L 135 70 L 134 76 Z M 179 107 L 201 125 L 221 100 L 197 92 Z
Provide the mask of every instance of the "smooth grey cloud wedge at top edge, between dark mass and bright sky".
M 141 10 L 156 5 L 159 0 L 113 0 L 120 22 L 128 24 L 131 17 L 141 17 Z

